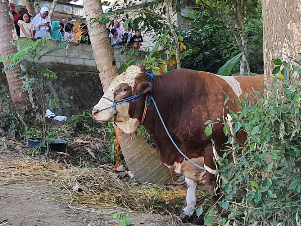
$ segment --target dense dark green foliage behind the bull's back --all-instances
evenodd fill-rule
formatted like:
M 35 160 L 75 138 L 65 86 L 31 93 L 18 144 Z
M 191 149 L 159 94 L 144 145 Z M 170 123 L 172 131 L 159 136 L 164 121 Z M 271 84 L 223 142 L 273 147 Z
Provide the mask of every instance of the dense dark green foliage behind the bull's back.
M 225 62 L 241 52 L 228 26 L 209 12 L 192 11 L 189 18 L 193 19 L 191 28 L 182 31 L 184 43 L 189 47 L 198 47 L 198 52 L 185 58 L 182 67 L 198 71 L 217 73 Z M 246 24 L 248 40 L 248 55 L 250 70 L 263 74 L 263 34 L 261 11 L 258 16 L 248 20 Z M 239 71 L 237 63 L 232 71 Z

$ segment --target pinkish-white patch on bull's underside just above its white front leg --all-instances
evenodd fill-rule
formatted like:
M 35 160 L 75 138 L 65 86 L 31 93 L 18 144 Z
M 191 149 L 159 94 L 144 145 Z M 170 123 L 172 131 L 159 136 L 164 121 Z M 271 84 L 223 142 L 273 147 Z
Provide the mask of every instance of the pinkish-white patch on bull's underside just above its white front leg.
M 197 165 L 204 167 L 204 158 L 198 157 L 191 159 L 192 162 Z M 166 165 L 166 164 L 164 164 Z M 204 182 L 206 179 L 206 171 L 203 171 L 196 166 L 192 165 L 186 159 L 182 163 L 175 162 L 173 165 L 166 165 L 168 168 L 172 169 L 176 174 L 183 175 L 196 182 Z

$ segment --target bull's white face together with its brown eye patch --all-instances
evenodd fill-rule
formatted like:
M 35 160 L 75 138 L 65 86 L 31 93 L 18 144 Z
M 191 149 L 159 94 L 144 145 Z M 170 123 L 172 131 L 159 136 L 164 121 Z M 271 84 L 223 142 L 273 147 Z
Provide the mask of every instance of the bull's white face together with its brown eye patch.
M 119 74 L 111 82 L 109 88 L 99 100 L 97 105 L 93 108 L 93 116 L 97 121 L 101 123 L 113 122 L 115 120 L 114 109 L 108 108 L 113 105 L 110 100 L 121 100 L 130 96 L 133 96 L 135 78 L 144 74 L 144 68 L 137 65 L 130 66 L 124 73 Z M 151 87 L 150 87 L 151 88 Z M 144 89 L 147 92 L 149 89 Z M 143 93 L 144 93 L 143 92 Z M 137 94 L 137 93 L 135 93 Z M 139 93 L 140 94 L 140 93 Z M 103 98 L 105 97 L 105 98 Z M 106 99 L 107 98 L 107 99 Z M 98 112 L 98 110 L 108 108 L 104 111 Z M 129 115 L 129 102 L 116 106 L 118 114 L 116 115 L 115 123 L 123 130 L 124 133 L 133 133 L 140 124 L 138 118 L 131 118 Z

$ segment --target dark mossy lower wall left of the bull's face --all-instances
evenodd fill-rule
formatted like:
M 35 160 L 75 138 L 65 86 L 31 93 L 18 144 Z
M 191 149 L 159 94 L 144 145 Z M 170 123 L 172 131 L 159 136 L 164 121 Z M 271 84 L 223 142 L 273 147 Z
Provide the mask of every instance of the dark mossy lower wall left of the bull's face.
M 44 68 L 53 71 L 57 79 L 44 83 L 44 92 L 52 93 L 60 100 L 60 108 L 54 109 L 57 115 L 79 114 L 91 110 L 103 95 L 99 73 L 95 67 L 84 67 L 44 63 Z

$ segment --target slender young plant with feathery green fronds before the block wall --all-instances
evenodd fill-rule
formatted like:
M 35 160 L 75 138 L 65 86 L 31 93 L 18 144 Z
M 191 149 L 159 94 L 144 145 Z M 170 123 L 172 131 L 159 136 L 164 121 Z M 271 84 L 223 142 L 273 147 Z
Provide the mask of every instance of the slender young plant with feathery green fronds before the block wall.
M 32 40 L 28 38 L 18 39 L 13 42 L 11 45 L 17 46 L 19 51 L 17 53 L 8 54 L 0 58 L 0 63 L 3 61 L 10 61 L 10 64 L 3 68 L 3 72 L 10 71 L 11 69 L 21 66 L 25 68 L 21 72 L 21 78 L 27 77 L 23 81 L 23 86 L 21 88 L 22 92 L 33 90 L 38 88 L 42 100 L 43 108 L 43 137 L 48 140 L 47 127 L 46 127 L 46 118 L 45 118 L 45 100 L 48 102 L 49 108 L 58 108 L 59 99 L 54 97 L 52 94 L 45 94 L 43 90 L 44 81 L 51 82 L 53 79 L 56 79 L 57 76 L 53 71 L 50 71 L 46 68 L 37 67 L 39 60 L 58 49 L 64 48 L 67 45 L 67 42 L 62 42 L 56 46 L 50 46 L 48 44 L 49 38 L 42 38 L 38 40 Z M 37 96 L 37 95 L 36 95 Z

